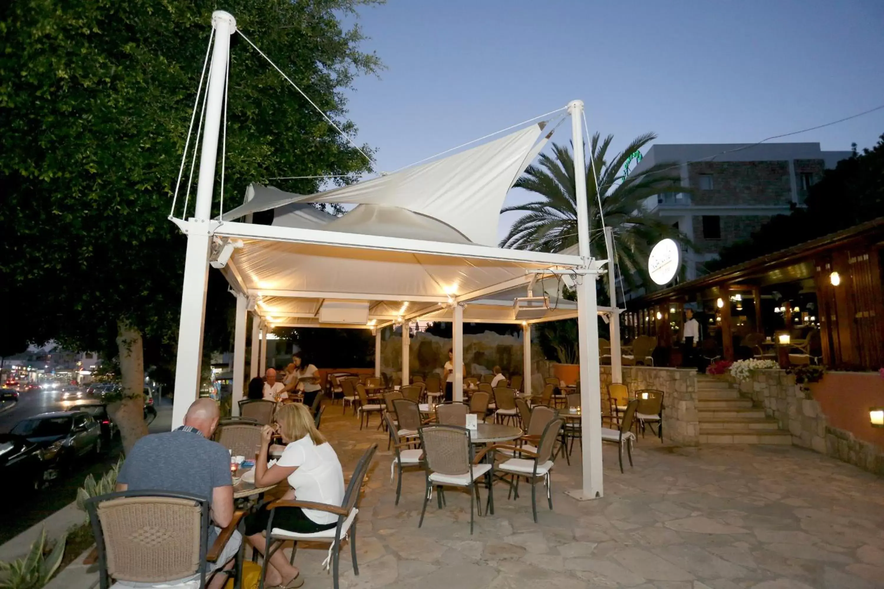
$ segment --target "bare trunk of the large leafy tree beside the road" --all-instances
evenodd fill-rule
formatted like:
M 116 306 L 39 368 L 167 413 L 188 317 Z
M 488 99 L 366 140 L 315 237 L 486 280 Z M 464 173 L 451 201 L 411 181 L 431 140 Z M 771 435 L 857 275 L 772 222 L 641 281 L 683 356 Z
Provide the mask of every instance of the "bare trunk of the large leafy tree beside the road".
M 117 321 L 120 384 L 123 397 L 108 405 L 110 419 L 119 427 L 123 451 L 148 434 L 144 424 L 144 353 L 141 331 L 126 320 Z

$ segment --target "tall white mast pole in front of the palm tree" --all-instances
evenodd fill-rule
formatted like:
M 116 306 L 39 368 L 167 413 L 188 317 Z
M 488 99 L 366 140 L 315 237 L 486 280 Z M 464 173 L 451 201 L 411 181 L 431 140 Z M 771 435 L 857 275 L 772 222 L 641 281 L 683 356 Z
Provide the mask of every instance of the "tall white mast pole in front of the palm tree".
M 577 340 L 580 352 L 580 404 L 583 407 L 583 488 L 568 495 L 578 499 L 602 496 L 601 382 L 598 370 L 598 305 L 596 274 L 590 257 L 590 212 L 586 200 L 586 158 L 583 155 L 583 101 L 568 103 L 574 144 L 577 233 L 583 273 L 577 280 Z

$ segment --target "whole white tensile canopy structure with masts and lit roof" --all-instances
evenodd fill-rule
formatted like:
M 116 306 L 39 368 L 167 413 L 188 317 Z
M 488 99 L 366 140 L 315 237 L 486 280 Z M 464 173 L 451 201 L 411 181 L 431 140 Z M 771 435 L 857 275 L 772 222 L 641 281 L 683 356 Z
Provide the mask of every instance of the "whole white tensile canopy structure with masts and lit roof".
M 244 381 L 247 316 L 256 331 L 269 324 L 374 327 L 408 323 L 427 316 L 453 322 L 454 396 L 462 398 L 462 325 L 465 316 L 532 322 L 577 316 L 580 332 L 583 405 L 600 406 L 595 279 L 604 261 L 589 252 L 585 174 L 577 174 L 579 255 L 502 249 L 495 246 L 499 211 L 507 191 L 547 137 L 543 125 L 529 125 L 479 147 L 354 185 L 313 195 L 286 194 L 252 185 L 240 208 L 210 219 L 217 166 L 217 144 L 224 103 L 226 65 L 235 20 L 213 14 L 216 29 L 207 88 L 206 116 L 196 208 L 193 218 L 173 218 L 187 234 L 172 425 L 183 421 L 199 394 L 202 332 L 208 268 L 221 268 L 237 298 L 233 391 Z M 583 103 L 571 102 L 575 162 L 583 166 Z M 303 203 L 356 205 L 340 218 L 327 219 Z M 309 207 L 309 205 L 307 205 Z M 283 208 L 281 223 L 258 225 L 233 219 L 268 208 Z M 577 303 L 558 298 L 534 310 L 530 321 L 514 315 L 514 294 L 529 288 L 543 293 L 560 276 L 576 280 Z M 545 281 L 545 279 L 548 279 Z M 555 279 L 555 280 L 553 280 Z M 503 294 L 499 294 L 503 293 Z M 552 298 L 551 298 L 552 301 Z M 394 316 L 395 313 L 395 316 Z M 403 329 L 403 336 L 408 329 Z M 528 335 L 528 334 L 526 334 Z M 405 338 L 403 344 L 406 344 Z M 403 345 L 403 347 L 405 347 Z M 525 346 L 530 350 L 530 346 Z M 263 355 L 263 353 L 262 353 Z M 252 355 L 256 374 L 258 355 Z M 407 374 L 407 366 L 403 372 Z M 527 375 L 526 375 L 527 376 Z M 234 407 L 236 404 L 234 403 Z M 598 412 L 583 419 L 583 490 L 602 495 L 601 421 Z

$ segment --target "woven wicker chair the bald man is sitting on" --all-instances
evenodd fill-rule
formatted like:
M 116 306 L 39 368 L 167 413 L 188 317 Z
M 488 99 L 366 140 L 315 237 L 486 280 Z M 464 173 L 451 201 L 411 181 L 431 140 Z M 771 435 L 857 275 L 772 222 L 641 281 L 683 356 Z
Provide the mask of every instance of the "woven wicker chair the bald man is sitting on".
M 98 585 L 114 581 L 165 584 L 183 579 L 207 580 L 206 563 L 217 563 L 245 511 L 209 546 L 210 503 L 206 497 L 164 491 L 123 491 L 86 501 L 98 556 Z M 222 563 L 223 564 L 223 563 Z M 242 547 L 232 570 L 217 570 L 239 589 Z

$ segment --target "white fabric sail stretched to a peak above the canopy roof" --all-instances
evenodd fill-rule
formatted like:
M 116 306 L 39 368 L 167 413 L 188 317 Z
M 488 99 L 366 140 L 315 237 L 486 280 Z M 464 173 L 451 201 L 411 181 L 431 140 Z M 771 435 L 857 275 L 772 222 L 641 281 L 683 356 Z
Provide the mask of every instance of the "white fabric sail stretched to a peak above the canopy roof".
M 548 139 L 538 141 L 543 127 L 530 125 L 454 155 L 324 193 L 300 195 L 253 185 L 247 195 L 250 200 L 225 213 L 223 219 L 291 202 L 376 205 L 430 217 L 441 223 L 437 229 L 443 233 L 447 226 L 473 243 L 493 246 L 507 191 Z M 352 226 L 351 230 L 365 232 Z

